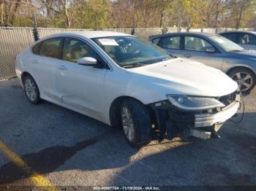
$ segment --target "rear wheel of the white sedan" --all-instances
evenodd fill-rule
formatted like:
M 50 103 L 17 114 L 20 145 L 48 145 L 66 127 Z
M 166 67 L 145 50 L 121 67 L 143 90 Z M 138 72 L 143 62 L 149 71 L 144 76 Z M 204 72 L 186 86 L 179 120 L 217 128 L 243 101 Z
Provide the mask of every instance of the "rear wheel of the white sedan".
M 39 104 L 41 102 L 39 89 L 33 77 L 26 75 L 23 79 L 23 87 L 26 98 L 28 98 L 31 104 Z

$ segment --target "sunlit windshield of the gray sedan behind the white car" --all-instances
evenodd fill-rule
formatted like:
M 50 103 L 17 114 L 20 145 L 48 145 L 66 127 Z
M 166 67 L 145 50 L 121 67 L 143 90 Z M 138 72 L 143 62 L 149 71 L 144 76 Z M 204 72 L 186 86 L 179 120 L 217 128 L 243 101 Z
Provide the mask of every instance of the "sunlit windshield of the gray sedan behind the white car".
M 209 39 L 211 39 L 212 41 L 219 44 L 219 46 L 222 47 L 227 52 L 231 52 L 231 51 L 240 52 L 240 51 L 244 50 L 243 47 L 240 47 L 235 42 L 232 42 L 232 41 L 230 41 L 229 39 L 226 39 L 223 36 L 219 36 L 219 35 L 209 36 Z

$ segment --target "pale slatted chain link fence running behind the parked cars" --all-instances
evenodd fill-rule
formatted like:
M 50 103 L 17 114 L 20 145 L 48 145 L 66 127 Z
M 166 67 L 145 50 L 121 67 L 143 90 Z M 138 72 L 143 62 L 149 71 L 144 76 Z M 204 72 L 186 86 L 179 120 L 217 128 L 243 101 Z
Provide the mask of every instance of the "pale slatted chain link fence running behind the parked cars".
M 70 31 L 88 31 L 92 29 L 79 28 L 37 28 L 39 38 L 51 34 L 59 34 Z M 190 28 L 189 31 L 219 33 L 222 31 L 235 30 L 234 28 Z M 252 30 L 243 28 L 241 30 Z M 145 39 L 148 36 L 162 34 L 164 31 L 173 33 L 187 31 L 186 28 L 106 28 L 104 31 L 116 31 L 124 34 L 135 34 Z M 15 77 L 15 56 L 26 50 L 34 42 L 33 28 L 0 27 L 0 81 Z

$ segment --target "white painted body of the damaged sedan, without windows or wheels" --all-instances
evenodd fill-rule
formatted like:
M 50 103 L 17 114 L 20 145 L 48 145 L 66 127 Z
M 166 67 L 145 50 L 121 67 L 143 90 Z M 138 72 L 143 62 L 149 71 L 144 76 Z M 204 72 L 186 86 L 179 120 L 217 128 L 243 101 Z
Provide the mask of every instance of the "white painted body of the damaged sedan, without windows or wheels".
M 166 100 L 166 94 L 219 97 L 233 93 L 238 85 L 219 69 L 187 59 L 173 58 L 133 69 L 118 66 L 90 38 L 129 36 L 105 31 L 56 34 L 83 39 L 99 52 L 110 69 L 81 66 L 56 58 L 35 55 L 31 47 L 16 58 L 16 74 L 34 77 L 40 97 L 110 125 L 110 106 L 120 96 L 130 96 L 143 104 Z M 34 60 L 39 61 L 35 63 Z M 67 69 L 59 69 L 64 66 Z M 22 84 L 22 83 L 21 83 Z

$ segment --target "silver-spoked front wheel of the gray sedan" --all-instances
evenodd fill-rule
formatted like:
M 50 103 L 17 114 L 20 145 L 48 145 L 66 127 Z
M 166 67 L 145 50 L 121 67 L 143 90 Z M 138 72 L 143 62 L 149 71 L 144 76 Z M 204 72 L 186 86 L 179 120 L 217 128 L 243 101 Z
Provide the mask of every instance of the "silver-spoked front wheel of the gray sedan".
M 241 93 L 249 93 L 255 87 L 255 74 L 249 69 L 233 69 L 228 75 L 238 82 Z

